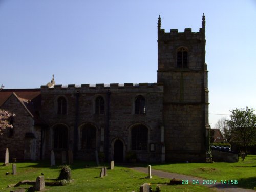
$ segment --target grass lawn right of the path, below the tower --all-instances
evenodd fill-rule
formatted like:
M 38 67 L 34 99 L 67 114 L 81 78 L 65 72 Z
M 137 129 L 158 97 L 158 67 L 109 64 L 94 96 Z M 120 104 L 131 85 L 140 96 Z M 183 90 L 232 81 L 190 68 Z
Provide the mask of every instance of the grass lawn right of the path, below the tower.
M 238 180 L 237 186 L 256 190 L 256 155 L 247 155 L 237 163 L 176 163 L 152 168 L 217 181 Z

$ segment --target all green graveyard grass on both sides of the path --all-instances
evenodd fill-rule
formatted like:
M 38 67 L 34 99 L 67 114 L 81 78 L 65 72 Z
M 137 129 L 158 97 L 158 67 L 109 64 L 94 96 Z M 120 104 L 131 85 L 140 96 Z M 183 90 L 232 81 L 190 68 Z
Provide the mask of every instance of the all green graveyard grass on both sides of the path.
M 3 164 L 3 163 L 2 163 Z M 46 191 L 139 191 L 143 183 L 151 183 L 153 191 L 157 184 L 160 184 L 161 191 L 215 191 L 202 185 L 166 185 L 169 179 L 159 178 L 153 175 L 152 179 L 146 179 L 147 174 L 131 170 L 124 166 L 115 165 L 114 170 L 108 169 L 108 176 L 100 178 L 99 168 L 84 168 L 85 165 L 95 166 L 95 162 L 74 161 L 71 165 L 71 178 L 73 183 L 65 186 L 46 186 Z M 16 184 L 22 180 L 35 180 L 37 176 L 44 173 L 47 179 L 56 179 L 59 175 L 60 167 L 50 167 L 50 161 L 40 162 L 17 162 L 17 175 L 12 175 L 12 164 L 0 167 L 0 191 L 10 191 L 15 189 L 7 188 L 9 184 Z M 56 161 L 56 165 L 60 162 Z M 102 164 L 109 166 L 109 164 Z M 140 164 L 146 167 L 148 164 Z M 138 166 L 138 165 L 136 165 Z M 243 188 L 256 187 L 256 156 L 248 155 L 244 162 L 238 163 L 177 163 L 177 164 L 152 164 L 153 169 L 167 172 L 180 173 L 202 177 L 205 179 L 238 180 L 238 186 Z M 5 175 L 9 172 L 9 175 Z M 241 180 L 242 179 L 242 180 Z M 31 185 L 22 185 L 29 188 Z M 255 188 L 254 188 L 255 190 Z

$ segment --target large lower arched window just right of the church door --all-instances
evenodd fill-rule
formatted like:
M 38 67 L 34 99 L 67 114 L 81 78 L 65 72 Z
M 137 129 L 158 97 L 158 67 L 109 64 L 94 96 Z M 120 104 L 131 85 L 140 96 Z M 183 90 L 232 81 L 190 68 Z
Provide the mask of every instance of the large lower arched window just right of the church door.
M 131 131 L 132 150 L 147 150 L 148 130 L 144 125 L 137 125 Z

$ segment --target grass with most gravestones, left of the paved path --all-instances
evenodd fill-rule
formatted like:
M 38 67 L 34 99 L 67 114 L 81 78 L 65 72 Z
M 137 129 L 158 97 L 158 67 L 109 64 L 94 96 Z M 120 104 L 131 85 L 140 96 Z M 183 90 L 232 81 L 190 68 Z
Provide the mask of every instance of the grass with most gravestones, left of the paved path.
M 108 170 L 108 176 L 100 178 L 100 169 L 84 168 L 84 165 L 94 166 L 90 162 L 75 161 L 71 166 L 72 179 L 74 182 L 65 186 L 46 186 L 46 191 L 139 191 L 139 186 L 143 183 L 151 183 L 155 190 L 156 185 L 160 184 L 161 191 L 214 191 L 205 186 L 193 185 L 174 185 L 169 186 L 165 183 L 169 179 L 153 177 L 145 179 L 147 176 L 144 173 L 136 172 L 127 167 L 115 166 L 114 170 Z M 0 167 L 0 191 L 10 191 L 17 188 L 7 188 L 9 184 L 16 184 L 22 180 L 35 180 L 37 176 L 44 173 L 45 179 L 57 178 L 60 167 L 49 167 L 50 161 L 40 162 L 20 162 L 17 165 L 17 175 L 5 175 L 6 172 L 12 173 L 12 165 Z M 107 166 L 107 164 L 105 164 Z M 46 180 L 47 181 L 47 180 Z M 29 185 L 22 185 L 29 188 Z M 154 191 L 153 190 L 153 191 Z

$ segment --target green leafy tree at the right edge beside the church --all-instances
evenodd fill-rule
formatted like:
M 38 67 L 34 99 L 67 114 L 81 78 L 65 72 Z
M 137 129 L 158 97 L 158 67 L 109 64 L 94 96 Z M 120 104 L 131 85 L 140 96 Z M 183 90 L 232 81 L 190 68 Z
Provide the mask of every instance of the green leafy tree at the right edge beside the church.
M 230 120 L 226 121 L 229 126 L 227 133 L 231 142 L 240 144 L 247 153 L 249 144 L 256 140 L 256 115 L 255 109 L 246 107 L 245 109 L 235 109 L 231 111 Z

